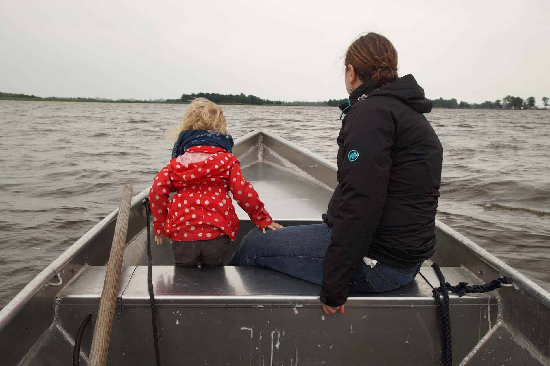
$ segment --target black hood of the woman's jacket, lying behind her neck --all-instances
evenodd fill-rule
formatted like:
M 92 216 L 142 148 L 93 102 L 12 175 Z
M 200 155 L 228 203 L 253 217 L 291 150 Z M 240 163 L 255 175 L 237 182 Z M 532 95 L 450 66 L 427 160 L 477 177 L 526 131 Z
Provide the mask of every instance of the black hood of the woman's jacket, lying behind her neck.
M 350 94 L 349 104 L 355 104 L 357 98 L 360 98 L 362 95 L 366 95 L 367 97 L 386 96 L 399 99 L 399 101 L 407 104 L 418 113 L 430 113 L 432 111 L 432 101 L 424 96 L 424 89 L 418 85 L 412 74 L 399 77 L 399 79 L 379 88 L 375 88 L 372 82 L 366 81 Z M 340 109 L 344 110 L 346 107 L 348 107 L 348 103 L 342 104 Z

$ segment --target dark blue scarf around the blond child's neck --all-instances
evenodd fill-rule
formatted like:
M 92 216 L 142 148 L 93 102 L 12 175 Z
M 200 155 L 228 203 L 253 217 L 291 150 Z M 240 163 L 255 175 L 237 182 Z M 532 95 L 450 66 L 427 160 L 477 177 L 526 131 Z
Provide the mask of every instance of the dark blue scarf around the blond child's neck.
M 231 135 L 220 134 L 218 131 L 183 130 L 179 133 L 178 141 L 174 143 L 172 159 L 183 155 L 191 146 L 199 145 L 217 146 L 227 152 L 231 152 L 233 137 Z

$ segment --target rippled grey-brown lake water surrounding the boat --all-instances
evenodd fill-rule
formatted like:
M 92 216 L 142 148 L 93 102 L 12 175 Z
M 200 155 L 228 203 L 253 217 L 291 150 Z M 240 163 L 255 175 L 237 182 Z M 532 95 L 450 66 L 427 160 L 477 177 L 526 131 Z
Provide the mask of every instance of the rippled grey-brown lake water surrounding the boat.
M 171 156 L 181 104 L 0 101 L 0 306 Z M 331 107 L 224 106 L 230 133 L 262 127 L 335 162 Z M 550 290 L 550 111 L 427 114 L 444 148 L 438 219 Z

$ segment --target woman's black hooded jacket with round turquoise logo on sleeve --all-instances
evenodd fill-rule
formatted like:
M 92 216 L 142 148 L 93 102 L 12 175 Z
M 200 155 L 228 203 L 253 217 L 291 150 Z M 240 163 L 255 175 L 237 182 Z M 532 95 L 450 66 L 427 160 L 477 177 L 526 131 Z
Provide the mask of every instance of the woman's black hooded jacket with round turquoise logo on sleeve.
M 320 296 L 334 307 L 347 300 L 364 256 L 401 268 L 432 256 L 443 162 L 423 115 L 432 102 L 412 75 L 379 88 L 367 81 L 349 100 L 340 106 L 338 186 L 323 215 L 332 240 Z

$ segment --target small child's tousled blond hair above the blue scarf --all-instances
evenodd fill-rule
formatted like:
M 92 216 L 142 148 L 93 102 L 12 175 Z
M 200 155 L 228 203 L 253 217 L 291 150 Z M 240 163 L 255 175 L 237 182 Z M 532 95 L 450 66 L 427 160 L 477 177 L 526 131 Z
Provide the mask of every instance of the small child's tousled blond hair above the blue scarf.
M 227 134 L 227 122 L 222 108 L 206 98 L 196 98 L 189 104 L 183 120 L 174 126 L 169 135 L 178 138 L 183 130 L 210 130 Z

